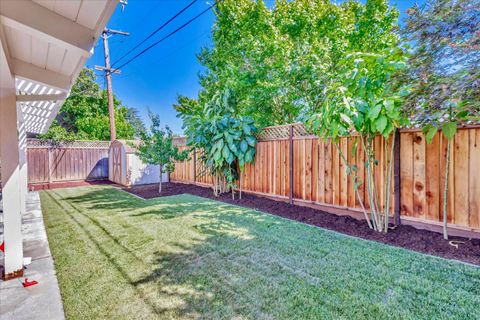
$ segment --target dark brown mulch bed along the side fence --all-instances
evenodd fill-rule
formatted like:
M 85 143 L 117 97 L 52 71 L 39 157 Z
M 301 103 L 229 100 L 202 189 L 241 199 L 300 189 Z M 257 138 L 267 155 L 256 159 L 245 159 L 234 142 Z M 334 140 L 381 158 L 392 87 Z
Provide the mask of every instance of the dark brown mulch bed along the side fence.
M 383 242 L 397 247 L 403 247 L 447 259 L 456 259 L 480 265 L 480 240 L 450 237 L 450 240 L 464 241 L 458 249 L 443 239 L 440 233 L 415 229 L 402 225 L 387 234 L 378 233 L 368 228 L 365 221 L 349 216 L 338 216 L 313 208 L 291 205 L 283 201 L 275 201 L 251 194 L 243 193 L 242 199 L 232 199 L 231 194 L 224 194 L 216 198 L 210 188 L 181 183 L 165 183 L 161 196 L 172 196 L 189 193 L 196 196 L 210 198 L 242 207 L 257 209 L 284 218 L 301 221 L 322 228 L 335 230 L 351 236 Z M 158 185 L 137 186 L 124 189 L 146 199 L 156 198 Z

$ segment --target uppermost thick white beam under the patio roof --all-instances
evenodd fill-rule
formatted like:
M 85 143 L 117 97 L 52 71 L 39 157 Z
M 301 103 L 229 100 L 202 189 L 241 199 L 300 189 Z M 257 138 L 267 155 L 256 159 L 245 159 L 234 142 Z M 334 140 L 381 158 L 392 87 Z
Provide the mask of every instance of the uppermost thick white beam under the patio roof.
M 1 1 L 0 20 L 5 26 L 55 43 L 90 57 L 93 30 L 75 23 L 33 1 Z

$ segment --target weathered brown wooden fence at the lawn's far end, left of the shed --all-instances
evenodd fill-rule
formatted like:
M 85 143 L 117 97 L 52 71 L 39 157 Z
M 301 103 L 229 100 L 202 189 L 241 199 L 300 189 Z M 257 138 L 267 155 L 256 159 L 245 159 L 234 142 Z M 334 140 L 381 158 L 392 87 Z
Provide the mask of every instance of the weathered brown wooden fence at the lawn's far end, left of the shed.
M 29 139 L 28 183 L 107 179 L 109 144 L 108 141 L 72 141 L 52 145 Z

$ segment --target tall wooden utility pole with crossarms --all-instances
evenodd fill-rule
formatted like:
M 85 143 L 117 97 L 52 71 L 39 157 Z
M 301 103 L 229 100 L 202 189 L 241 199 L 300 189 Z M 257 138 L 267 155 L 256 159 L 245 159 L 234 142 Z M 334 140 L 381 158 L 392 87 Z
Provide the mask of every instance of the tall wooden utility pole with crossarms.
M 119 34 L 122 36 L 130 35 L 128 32 L 111 30 L 111 29 L 105 28 L 102 32 L 103 51 L 105 54 L 105 67 L 95 66 L 96 70 L 104 71 L 105 77 L 107 78 L 108 115 L 110 119 L 110 141 L 114 141 L 117 138 L 117 131 L 115 129 L 115 107 L 113 103 L 112 73 L 120 74 L 120 70 L 112 69 L 110 67 L 110 51 L 108 49 L 108 38 L 112 34 Z

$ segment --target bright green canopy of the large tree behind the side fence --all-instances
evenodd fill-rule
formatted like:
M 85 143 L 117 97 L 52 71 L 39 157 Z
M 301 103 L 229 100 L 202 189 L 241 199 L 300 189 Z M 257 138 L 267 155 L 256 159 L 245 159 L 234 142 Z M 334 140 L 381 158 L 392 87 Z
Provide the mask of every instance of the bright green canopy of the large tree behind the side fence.
M 292 123 L 317 108 L 346 54 L 398 43 L 398 12 L 386 0 L 279 0 L 272 8 L 262 0 L 225 0 L 216 15 L 213 46 L 198 54 L 206 71 L 197 110 L 229 90 L 234 114 L 259 127 Z M 180 97 L 183 103 L 192 101 Z

